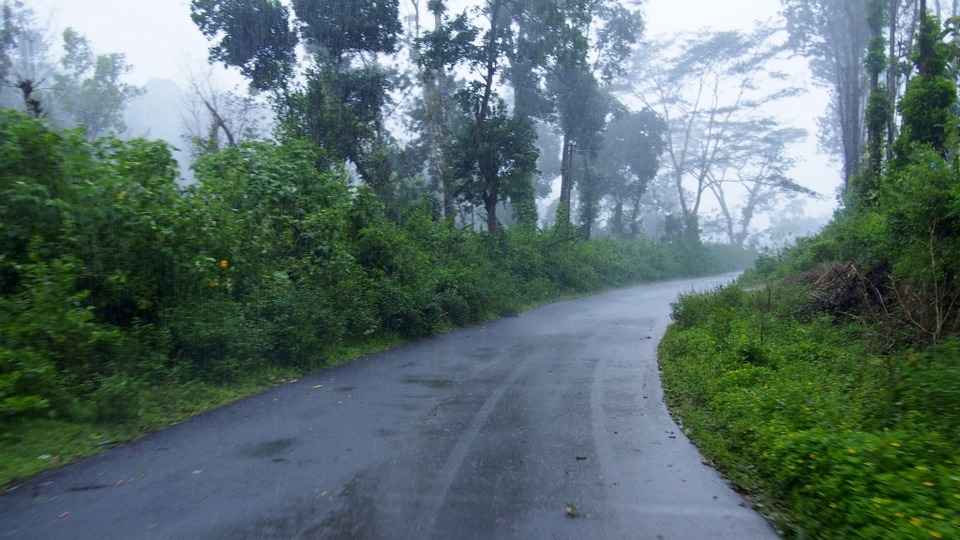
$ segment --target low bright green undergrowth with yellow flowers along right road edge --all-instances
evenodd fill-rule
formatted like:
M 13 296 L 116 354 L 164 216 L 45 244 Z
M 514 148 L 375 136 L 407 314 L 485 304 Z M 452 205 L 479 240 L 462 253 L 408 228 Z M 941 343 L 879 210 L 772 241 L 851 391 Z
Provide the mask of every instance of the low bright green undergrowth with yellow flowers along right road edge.
M 684 298 L 660 349 L 674 411 L 791 536 L 957 538 L 960 340 L 879 354 L 806 302 L 793 287 Z

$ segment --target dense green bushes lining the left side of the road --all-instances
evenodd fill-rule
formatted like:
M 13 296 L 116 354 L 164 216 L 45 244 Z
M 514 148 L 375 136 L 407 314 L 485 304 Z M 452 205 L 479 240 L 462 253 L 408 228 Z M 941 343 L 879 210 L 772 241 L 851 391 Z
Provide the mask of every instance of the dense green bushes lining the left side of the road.
M 565 293 L 732 269 L 645 240 L 496 237 L 378 198 L 298 141 L 203 156 L 0 112 L 0 422 L 136 420 L 145 389 L 323 365 Z

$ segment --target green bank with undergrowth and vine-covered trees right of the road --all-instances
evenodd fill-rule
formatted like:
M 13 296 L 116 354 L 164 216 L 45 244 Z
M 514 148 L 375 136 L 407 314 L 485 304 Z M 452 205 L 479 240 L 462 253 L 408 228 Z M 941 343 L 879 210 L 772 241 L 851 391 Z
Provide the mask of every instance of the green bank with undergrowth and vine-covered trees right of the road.
M 685 430 L 789 537 L 960 538 L 955 29 L 921 21 L 895 140 L 876 84 L 834 222 L 683 298 L 661 345 Z

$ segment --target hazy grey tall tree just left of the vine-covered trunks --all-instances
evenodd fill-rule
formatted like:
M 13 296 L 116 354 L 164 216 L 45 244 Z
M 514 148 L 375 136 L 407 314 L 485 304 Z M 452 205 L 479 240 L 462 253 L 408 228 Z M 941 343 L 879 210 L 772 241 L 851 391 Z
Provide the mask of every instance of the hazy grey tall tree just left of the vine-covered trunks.
M 868 86 L 863 58 L 870 45 L 867 24 L 872 0 L 782 0 L 791 44 L 810 58 L 814 77 L 828 85 L 832 103 L 821 141 L 842 150 L 844 190 L 859 172 L 864 150 L 863 116 Z

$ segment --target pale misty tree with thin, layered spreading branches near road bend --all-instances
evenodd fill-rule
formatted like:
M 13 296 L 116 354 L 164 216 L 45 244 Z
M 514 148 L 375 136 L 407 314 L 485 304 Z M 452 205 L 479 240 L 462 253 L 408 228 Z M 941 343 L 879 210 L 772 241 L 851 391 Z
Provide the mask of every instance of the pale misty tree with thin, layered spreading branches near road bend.
M 685 241 L 700 242 L 700 212 L 715 168 L 736 145 L 731 132 L 763 106 L 796 95 L 770 69 L 783 52 L 773 28 L 703 32 L 676 53 L 663 43 L 636 58 L 637 96 L 669 127 L 666 164 L 679 198 Z

